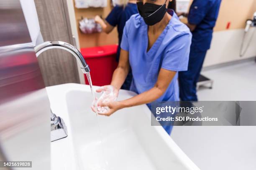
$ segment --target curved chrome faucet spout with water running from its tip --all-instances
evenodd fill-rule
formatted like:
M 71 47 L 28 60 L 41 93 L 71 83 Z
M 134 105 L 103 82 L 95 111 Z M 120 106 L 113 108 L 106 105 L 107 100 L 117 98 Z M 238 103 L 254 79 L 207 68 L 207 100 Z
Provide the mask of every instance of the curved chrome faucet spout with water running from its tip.
M 35 47 L 36 57 L 38 57 L 42 52 L 49 50 L 49 49 L 63 49 L 68 52 L 70 52 L 76 59 L 78 60 L 79 64 L 81 65 L 81 69 L 83 73 L 90 72 L 90 68 L 87 65 L 87 63 L 84 60 L 84 57 L 82 56 L 81 52 L 77 50 L 76 47 L 73 45 L 62 42 L 62 41 L 46 41 L 42 44 L 39 44 Z

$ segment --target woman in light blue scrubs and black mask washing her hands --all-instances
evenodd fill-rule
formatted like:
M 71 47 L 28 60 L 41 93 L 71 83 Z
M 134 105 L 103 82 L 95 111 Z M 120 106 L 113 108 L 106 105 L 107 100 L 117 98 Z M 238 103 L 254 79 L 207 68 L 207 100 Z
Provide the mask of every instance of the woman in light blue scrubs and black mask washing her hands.
M 98 102 L 98 106 L 110 108 L 100 115 L 110 116 L 122 108 L 143 104 L 151 108 L 153 101 L 179 101 L 178 72 L 187 70 L 192 35 L 174 10 L 167 10 L 170 1 L 138 0 L 140 14 L 131 16 L 125 24 L 120 61 L 111 85 L 96 90 L 110 90 L 117 96 L 131 68 L 131 90 L 138 95 L 122 101 Z M 171 129 L 172 126 L 165 127 L 167 133 Z

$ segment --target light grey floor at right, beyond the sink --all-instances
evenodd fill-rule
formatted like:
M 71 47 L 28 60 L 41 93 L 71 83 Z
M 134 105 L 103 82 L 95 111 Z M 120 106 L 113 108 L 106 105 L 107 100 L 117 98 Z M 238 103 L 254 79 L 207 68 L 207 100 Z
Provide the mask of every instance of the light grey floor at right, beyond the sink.
M 256 100 L 256 63 L 203 71 L 199 100 Z M 174 126 L 171 137 L 201 170 L 256 170 L 256 126 Z

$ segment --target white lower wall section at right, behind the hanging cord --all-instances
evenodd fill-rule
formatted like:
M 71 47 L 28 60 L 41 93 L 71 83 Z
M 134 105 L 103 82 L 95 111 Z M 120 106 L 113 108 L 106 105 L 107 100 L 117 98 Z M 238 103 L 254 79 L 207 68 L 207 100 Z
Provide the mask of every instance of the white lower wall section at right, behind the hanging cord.
M 225 62 L 241 60 L 256 56 L 256 28 L 251 28 L 247 33 L 245 45 L 255 31 L 252 42 L 244 57 L 239 56 L 239 50 L 243 37 L 243 29 L 218 31 L 213 33 L 211 49 L 207 52 L 204 67 L 217 65 Z

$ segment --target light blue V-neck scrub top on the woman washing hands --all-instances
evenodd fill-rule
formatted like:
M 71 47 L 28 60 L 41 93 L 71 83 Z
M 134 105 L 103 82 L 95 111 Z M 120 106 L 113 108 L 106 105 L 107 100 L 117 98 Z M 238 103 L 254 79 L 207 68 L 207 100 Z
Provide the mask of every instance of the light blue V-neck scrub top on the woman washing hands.
M 133 73 L 130 90 L 138 94 L 154 87 L 160 68 L 177 72 L 187 70 L 192 35 L 173 10 L 168 12 L 172 19 L 148 52 L 148 25 L 143 18 L 136 14 L 126 22 L 121 48 L 129 52 Z M 178 73 L 157 101 L 179 101 L 177 78 Z M 150 103 L 148 107 L 151 108 Z

